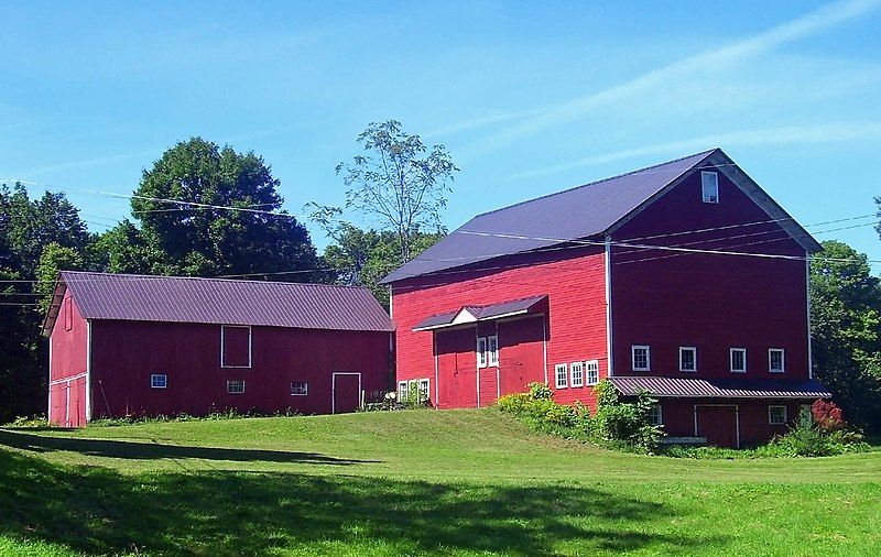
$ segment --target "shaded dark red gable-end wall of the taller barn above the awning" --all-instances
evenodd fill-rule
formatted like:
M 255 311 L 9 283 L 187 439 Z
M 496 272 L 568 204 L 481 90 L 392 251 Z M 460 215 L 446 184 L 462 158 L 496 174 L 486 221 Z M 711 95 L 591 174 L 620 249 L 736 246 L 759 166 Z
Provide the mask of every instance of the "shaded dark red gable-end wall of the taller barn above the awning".
M 701 200 L 700 172 L 620 230 L 613 242 L 773 253 L 804 250 L 719 173 L 718 205 Z M 738 236 L 740 238 L 732 238 Z M 804 261 L 612 248 L 613 372 L 631 375 L 630 347 L 651 346 L 651 374 L 730 378 L 729 348 L 747 348 L 750 379 L 808 378 Z M 678 347 L 697 347 L 697 372 L 678 371 Z M 785 374 L 769 373 L 768 349 L 785 349 Z

